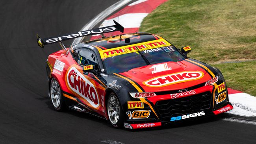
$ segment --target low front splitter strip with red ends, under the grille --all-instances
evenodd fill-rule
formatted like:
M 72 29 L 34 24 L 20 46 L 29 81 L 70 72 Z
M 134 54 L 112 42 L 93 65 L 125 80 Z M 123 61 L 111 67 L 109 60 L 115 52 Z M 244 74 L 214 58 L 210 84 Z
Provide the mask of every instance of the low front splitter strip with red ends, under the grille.
M 186 121 L 186 120 L 195 120 L 195 119 L 200 119 L 200 118 L 205 118 L 208 116 L 214 116 L 217 114 L 221 114 L 227 111 L 230 111 L 233 109 L 233 105 L 229 102 L 227 102 L 225 105 L 223 105 L 223 107 L 215 110 L 215 111 L 204 111 L 203 115 L 201 116 L 195 116 L 195 114 L 193 114 L 193 117 L 189 117 L 187 116 L 186 119 L 182 120 L 176 120 L 176 121 Z M 200 112 L 198 112 L 200 113 Z M 171 119 L 171 118 L 170 118 Z M 148 128 L 148 127 L 158 127 L 158 126 L 163 126 L 163 125 L 167 125 L 167 124 L 171 124 L 171 123 L 175 123 L 175 121 L 151 121 L 151 122 L 145 122 L 145 123 L 141 123 L 141 124 L 129 124 L 129 122 L 124 123 L 124 127 L 128 128 L 128 129 L 141 129 L 141 128 Z

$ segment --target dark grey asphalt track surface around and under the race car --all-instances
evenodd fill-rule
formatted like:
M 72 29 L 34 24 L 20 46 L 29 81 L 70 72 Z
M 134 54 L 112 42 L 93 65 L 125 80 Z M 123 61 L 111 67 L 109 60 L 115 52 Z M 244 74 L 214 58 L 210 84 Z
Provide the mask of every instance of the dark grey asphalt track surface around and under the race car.
M 35 34 L 50 37 L 78 31 L 117 1 L 0 1 L 0 143 L 255 144 L 256 125 L 221 120 L 237 117 L 230 114 L 132 131 L 115 129 L 90 114 L 54 110 L 47 94 L 45 66 L 47 56 L 60 47 L 39 48 Z

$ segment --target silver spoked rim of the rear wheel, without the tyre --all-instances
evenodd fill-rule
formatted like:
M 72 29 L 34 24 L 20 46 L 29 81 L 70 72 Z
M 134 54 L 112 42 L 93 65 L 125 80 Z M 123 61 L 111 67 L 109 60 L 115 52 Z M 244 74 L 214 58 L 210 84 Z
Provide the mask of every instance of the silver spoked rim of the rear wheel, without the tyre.
M 56 108 L 59 107 L 60 99 L 61 99 L 61 92 L 59 88 L 59 83 L 56 81 L 56 79 L 53 79 L 51 83 L 51 100 L 54 107 Z

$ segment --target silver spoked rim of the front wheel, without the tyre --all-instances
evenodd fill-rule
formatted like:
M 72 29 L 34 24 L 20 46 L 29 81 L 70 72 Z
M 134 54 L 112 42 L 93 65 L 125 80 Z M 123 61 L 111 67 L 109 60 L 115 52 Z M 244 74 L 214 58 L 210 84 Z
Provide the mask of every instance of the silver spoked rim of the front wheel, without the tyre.
M 117 124 L 120 115 L 120 106 L 115 95 L 108 99 L 108 118 L 112 124 Z

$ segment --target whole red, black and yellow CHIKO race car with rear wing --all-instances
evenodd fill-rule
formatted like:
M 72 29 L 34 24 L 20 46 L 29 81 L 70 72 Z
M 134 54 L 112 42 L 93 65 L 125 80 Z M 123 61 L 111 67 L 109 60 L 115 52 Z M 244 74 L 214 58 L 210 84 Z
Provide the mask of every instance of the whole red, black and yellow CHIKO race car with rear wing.
M 114 21 L 115 22 L 115 21 Z M 187 57 L 189 46 L 176 48 L 149 33 L 104 37 L 113 26 L 41 39 L 63 48 L 46 61 L 49 96 L 57 111 L 66 107 L 91 113 L 114 127 L 138 129 L 195 120 L 233 109 L 221 72 Z M 101 39 L 65 48 L 62 41 L 101 34 Z

